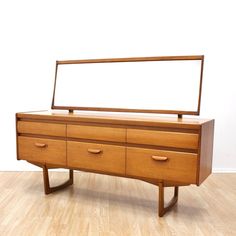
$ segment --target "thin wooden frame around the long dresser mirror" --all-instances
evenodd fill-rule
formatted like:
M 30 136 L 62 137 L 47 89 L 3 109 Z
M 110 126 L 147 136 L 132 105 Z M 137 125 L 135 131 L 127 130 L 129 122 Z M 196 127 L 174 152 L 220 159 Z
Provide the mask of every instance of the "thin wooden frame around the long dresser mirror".
M 84 63 L 115 63 L 115 62 L 142 62 L 142 61 L 180 61 L 180 60 L 200 60 L 200 85 L 198 95 L 198 107 L 197 111 L 181 111 L 181 110 L 148 110 L 148 109 L 126 109 L 126 108 L 104 108 L 104 107 L 74 107 L 74 106 L 55 106 L 55 92 L 57 83 L 57 69 L 58 65 L 62 64 L 84 64 Z M 107 58 L 107 59 L 85 59 L 85 60 L 66 60 L 56 61 L 56 71 L 54 80 L 54 89 L 52 97 L 52 109 L 59 110 L 87 110 L 87 111 L 109 111 L 109 112 L 138 112 L 138 113 L 159 113 L 159 114 L 176 114 L 179 118 L 182 115 L 199 115 L 201 106 L 201 93 L 202 93 L 202 80 L 203 80 L 203 65 L 204 55 L 192 55 L 192 56 L 159 56 L 159 57 L 131 57 L 131 58 Z

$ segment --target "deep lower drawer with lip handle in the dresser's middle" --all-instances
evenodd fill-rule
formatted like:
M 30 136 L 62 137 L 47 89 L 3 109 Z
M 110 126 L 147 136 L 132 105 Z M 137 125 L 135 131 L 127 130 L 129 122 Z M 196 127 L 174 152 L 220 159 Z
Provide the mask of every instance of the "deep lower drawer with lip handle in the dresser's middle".
M 68 141 L 67 164 L 87 170 L 124 174 L 125 147 Z

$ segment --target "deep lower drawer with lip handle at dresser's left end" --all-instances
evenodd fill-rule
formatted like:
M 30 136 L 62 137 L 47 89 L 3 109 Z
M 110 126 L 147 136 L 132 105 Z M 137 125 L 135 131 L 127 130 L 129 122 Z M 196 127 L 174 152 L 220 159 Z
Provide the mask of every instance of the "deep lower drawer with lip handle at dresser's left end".
M 66 165 L 66 141 L 19 136 L 18 153 L 23 160 Z

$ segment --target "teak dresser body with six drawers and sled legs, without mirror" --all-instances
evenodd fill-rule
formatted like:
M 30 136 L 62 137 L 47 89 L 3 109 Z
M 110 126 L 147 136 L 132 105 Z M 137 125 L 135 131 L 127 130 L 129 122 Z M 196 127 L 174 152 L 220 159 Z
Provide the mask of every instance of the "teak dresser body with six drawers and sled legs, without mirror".
M 17 159 L 42 167 L 46 194 L 73 184 L 73 170 L 135 178 L 159 187 L 163 216 L 179 186 L 199 186 L 211 174 L 212 119 L 69 110 L 16 114 Z M 68 181 L 51 187 L 50 168 L 69 169 Z M 165 205 L 164 188 L 171 186 Z

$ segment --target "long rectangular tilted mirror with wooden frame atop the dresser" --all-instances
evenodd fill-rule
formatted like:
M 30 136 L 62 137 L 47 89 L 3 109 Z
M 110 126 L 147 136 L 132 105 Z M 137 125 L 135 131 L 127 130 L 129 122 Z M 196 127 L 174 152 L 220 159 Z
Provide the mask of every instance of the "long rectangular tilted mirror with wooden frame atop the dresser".
M 203 59 L 57 61 L 52 109 L 199 115 Z

